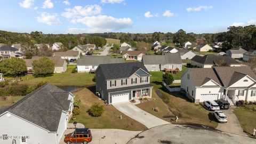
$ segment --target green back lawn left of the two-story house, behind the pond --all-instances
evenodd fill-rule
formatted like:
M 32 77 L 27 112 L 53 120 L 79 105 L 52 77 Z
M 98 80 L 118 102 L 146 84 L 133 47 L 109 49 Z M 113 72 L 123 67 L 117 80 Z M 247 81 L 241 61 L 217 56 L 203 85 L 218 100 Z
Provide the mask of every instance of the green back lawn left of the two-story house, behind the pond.
M 46 81 L 58 86 L 88 86 L 94 85 L 92 78 L 95 74 L 89 73 L 71 73 L 76 66 L 68 66 L 65 73 L 53 74 L 47 77 L 37 77 L 32 75 L 23 76 L 21 84 L 36 85 L 39 82 Z

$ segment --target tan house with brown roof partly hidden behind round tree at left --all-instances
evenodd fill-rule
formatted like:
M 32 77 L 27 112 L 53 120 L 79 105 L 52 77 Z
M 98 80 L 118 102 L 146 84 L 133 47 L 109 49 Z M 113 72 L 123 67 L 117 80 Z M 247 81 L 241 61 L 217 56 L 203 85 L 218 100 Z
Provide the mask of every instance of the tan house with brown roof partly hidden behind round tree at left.
M 33 73 L 32 63 L 34 60 L 39 60 L 43 57 L 32 57 L 31 59 L 24 59 L 26 61 L 27 69 L 29 73 Z M 67 70 L 67 62 L 61 57 L 46 57 L 54 62 L 55 68 L 53 73 L 64 73 Z

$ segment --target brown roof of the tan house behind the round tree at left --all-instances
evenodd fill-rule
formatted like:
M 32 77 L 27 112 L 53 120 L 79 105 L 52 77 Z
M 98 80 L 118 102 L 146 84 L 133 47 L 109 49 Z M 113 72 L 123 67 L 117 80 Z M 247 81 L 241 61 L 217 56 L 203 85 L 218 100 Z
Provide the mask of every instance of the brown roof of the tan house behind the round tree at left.
M 32 57 L 31 59 L 24 59 L 26 62 L 27 67 L 31 67 L 34 60 L 39 60 L 43 57 Z M 64 63 L 66 62 L 65 59 L 61 59 L 60 57 L 46 57 L 54 62 L 55 67 L 62 67 Z

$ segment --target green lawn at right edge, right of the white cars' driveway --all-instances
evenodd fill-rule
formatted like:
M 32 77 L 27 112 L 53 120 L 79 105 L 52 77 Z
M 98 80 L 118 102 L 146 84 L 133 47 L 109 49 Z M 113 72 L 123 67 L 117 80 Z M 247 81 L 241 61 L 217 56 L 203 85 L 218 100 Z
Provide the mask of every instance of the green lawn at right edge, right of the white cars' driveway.
M 256 127 L 256 105 L 247 105 L 245 107 L 237 107 L 234 114 L 238 118 L 243 130 L 248 134 L 252 134 L 252 129 Z M 254 109 L 254 110 L 253 110 Z

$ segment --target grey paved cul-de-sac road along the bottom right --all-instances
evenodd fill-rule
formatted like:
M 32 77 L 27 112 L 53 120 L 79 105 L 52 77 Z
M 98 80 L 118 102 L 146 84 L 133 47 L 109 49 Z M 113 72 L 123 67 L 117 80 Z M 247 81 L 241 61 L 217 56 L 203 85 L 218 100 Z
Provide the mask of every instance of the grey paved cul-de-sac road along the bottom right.
M 131 139 L 134 143 L 256 143 L 256 139 L 241 135 L 193 128 L 186 125 L 161 125 L 144 131 Z

